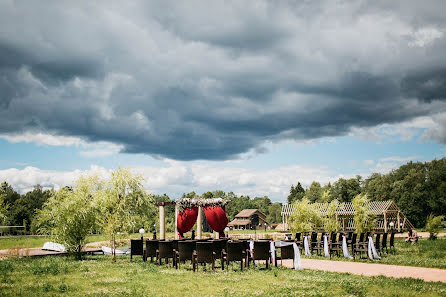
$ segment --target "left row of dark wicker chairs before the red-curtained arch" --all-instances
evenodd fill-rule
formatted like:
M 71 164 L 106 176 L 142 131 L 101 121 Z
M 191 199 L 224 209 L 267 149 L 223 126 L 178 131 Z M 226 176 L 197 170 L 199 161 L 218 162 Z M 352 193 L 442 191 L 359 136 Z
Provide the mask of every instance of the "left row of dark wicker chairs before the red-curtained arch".
M 253 251 L 250 252 L 248 240 L 229 240 L 219 239 L 201 239 L 201 240 L 146 240 L 146 248 L 143 248 L 143 240 L 131 240 L 131 254 L 142 255 L 144 261 L 150 257 L 156 259 L 156 263 L 161 265 L 162 261 L 169 263 L 172 259 L 172 266 L 180 268 L 181 263 L 191 261 L 193 270 L 198 270 L 199 264 L 209 263 L 212 270 L 215 270 L 215 261 L 220 260 L 221 268 L 226 269 L 230 262 L 240 262 L 240 268 L 248 267 L 250 262 L 255 260 L 265 260 L 266 267 L 271 262 L 270 241 L 259 240 L 254 241 Z M 254 262 L 255 263 L 255 262 Z

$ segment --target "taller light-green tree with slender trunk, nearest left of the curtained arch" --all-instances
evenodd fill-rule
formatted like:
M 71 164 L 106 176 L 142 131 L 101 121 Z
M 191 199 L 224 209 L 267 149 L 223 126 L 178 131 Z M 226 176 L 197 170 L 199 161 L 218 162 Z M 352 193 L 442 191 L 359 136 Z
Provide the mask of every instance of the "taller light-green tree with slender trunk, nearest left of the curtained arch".
M 155 207 L 153 196 L 146 193 L 142 180 L 142 176 L 121 168 L 112 172 L 98 197 L 98 223 L 110 237 L 113 261 L 116 260 L 116 234 L 131 231 L 139 218 Z

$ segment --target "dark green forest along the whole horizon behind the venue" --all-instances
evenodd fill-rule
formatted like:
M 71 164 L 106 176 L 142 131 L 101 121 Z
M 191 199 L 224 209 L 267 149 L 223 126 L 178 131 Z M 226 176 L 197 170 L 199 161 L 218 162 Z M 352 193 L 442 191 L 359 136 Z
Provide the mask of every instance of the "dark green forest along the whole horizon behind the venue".
M 37 185 L 25 194 L 17 193 L 11 185 L 3 182 L 0 186 L 0 224 L 25 225 L 28 232 L 35 233 L 36 210 L 41 209 L 54 190 L 45 190 Z M 351 179 L 340 178 L 334 183 L 324 186 L 314 181 L 308 188 L 300 182 L 292 185 L 287 197 L 288 203 L 307 197 L 311 202 L 349 202 L 356 195 L 365 193 L 370 200 L 393 200 L 416 227 L 424 227 L 429 214 L 446 214 L 446 158 L 430 162 L 409 162 L 387 174 L 373 173 L 363 179 L 356 176 Z M 233 192 L 216 190 L 196 194 L 185 193 L 183 197 L 221 197 L 228 200 L 226 212 L 229 220 L 246 208 L 260 209 L 267 216 L 270 223 L 280 223 L 282 203 L 273 202 L 268 196 L 251 198 L 246 195 L 238 196 Z M 170 201 L 164 195 L 155 195 L 158 201 Z M 168 231 L 173 231 L 174 208 L 166 208 Z M 157 228 L 157 219 L 153 218 L 148 231 Z

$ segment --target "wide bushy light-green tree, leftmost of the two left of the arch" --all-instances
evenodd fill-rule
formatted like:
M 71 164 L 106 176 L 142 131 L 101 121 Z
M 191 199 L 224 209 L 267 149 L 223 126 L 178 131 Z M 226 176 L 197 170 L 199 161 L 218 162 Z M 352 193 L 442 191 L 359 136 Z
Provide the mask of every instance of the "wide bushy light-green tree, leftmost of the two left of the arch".
M 95 199 L 100 188 L 97 176 L 81 177 L 76 186 L 53 193 L 37 211 L 40 233 L 51 234 L 67 251 L 82 257 L 87 235 L 95 225 Z

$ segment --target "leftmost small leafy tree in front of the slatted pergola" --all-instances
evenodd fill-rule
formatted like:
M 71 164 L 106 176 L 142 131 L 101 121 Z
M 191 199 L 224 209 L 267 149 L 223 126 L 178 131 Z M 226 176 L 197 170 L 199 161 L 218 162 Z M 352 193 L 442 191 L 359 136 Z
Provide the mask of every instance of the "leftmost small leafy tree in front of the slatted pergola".
M 294 211 L 289 218 L 288 225 L 294 232 L 310 232 L 322 226 L 320 211 L 307 198 L 294 202 Z

